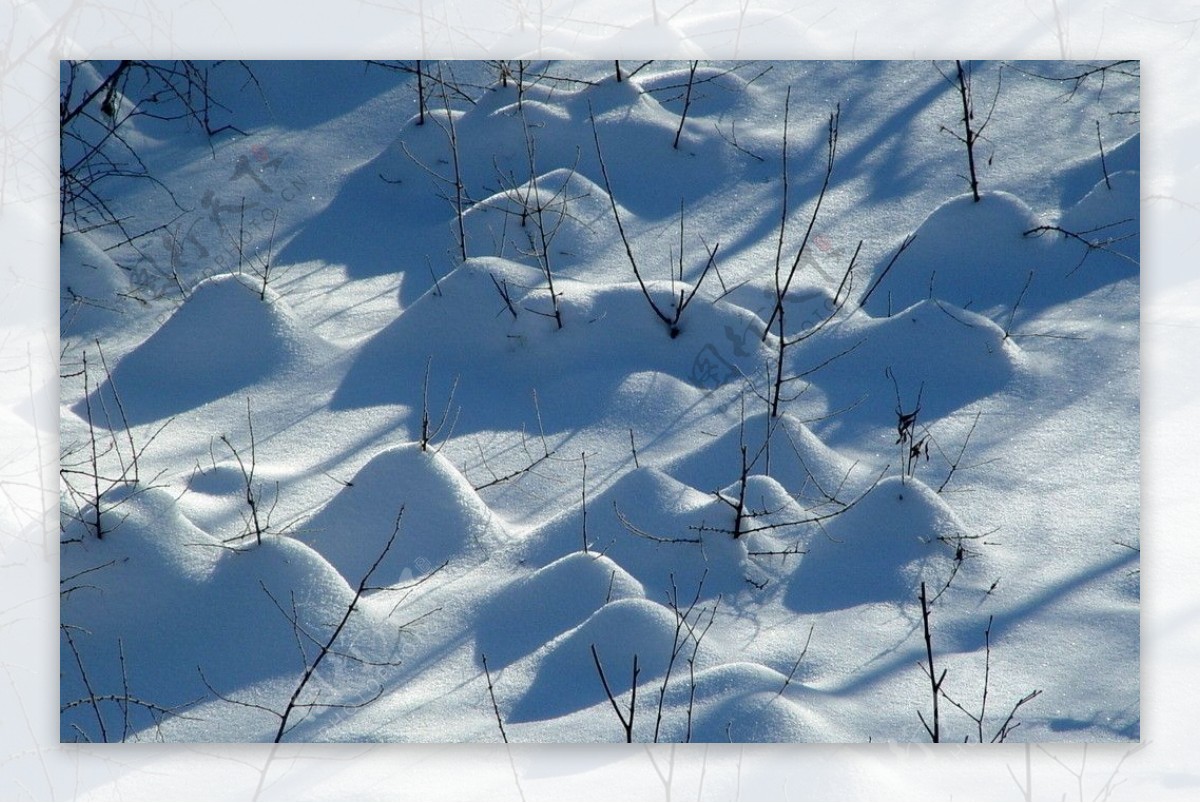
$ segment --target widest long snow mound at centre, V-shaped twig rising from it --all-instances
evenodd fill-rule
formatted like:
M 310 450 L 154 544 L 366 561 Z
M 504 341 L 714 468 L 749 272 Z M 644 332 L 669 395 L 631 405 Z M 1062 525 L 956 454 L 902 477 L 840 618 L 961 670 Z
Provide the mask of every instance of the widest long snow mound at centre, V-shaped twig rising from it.
M 494 281 L 493 281 L 494 280 Z M 517 316 L 509 312 L 497 284 L 506 286 Z M 673 311 L 684 283 L 647 282 L 660 310 Z M 547 406 L 556 398 L 589 394 L 568 412 L 583 419 L 631 373 L 660 371 L 696 386 L 732 382 L 761 362 L 761 344 L 746 356 L 731 358 L 712 374 L 703 364 L 710 348 L 706 332 L 742 329 L 752 314 L 731 305 L 689 306 L 674 337 L 658 318 L 636 283 L 594 286 L 556 278 L 559 329 L 540 271 L 497 258 L 470 259 L 421 296 L 395 322 L 368 340 L 334 395 L 335 409 L 401 403 L 420 409 L 425 364 L 432 359 L 448 390 L 458 376 L 458 431 L 509 426 L 504 413 L 529 405 L 536 388 Z M 424 350 L 415 350 L 414 344 Z M 482 359 L 496 356 L 497 359 Z M 503 356 L 503 359 L 499 359 Z M 547 365 L 571 365 L 571 372 L 547 372 Z M 386 380 L 380 380 L 386 378 Z M 445 398 L 431 388 L 431 400 Z

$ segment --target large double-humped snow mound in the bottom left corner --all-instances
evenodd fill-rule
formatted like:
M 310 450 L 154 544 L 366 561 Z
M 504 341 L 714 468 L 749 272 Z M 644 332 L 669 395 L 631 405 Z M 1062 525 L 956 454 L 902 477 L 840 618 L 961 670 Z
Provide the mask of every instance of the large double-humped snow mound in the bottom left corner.
M 162 489 L 124 489 L 109 503 L 120 503 L 107 516 L 110 532 L 102 540 L 84 534 L 61 551 L 62 576 L 74 577 L 65 585 L 74 589 L 62 598 L 62 623 L 72 628 L 97 695 L 120 695 L 127 683 L 132 696 L 172 707 L 210 696 L 200 671 L 224 693 L 299 676 L 290 611 L 307 633 L 323 634 L 349 603 L 341 576 L 292 539 L 222 544 L 188 522 Z M 350 634 L 360 643 L 376 640 L 368 623 L 354 624 Z M 64 701 L 85 696 L 66 643 L 61 661 Z M 122 669 L 126 661 L 136 669 Z M 92 732 L 85 712 L 78 709 L 78 721 Z M 104 715 L 120 721 L 120 712 Z M 148 717 L 138 709 L 133 726 L 149 726 Z M 72 721 L 65 717 L 64 727 Z

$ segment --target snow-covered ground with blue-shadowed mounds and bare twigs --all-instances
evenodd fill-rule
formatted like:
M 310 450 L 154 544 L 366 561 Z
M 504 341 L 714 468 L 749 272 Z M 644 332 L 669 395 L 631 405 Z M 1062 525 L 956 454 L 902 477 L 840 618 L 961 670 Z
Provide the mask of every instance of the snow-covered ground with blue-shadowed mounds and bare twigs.
M 953 61 L 642 65 L 134 121 L 64 741 L 1139 739 L 1136 64 L 971 62 L 978 200 Z

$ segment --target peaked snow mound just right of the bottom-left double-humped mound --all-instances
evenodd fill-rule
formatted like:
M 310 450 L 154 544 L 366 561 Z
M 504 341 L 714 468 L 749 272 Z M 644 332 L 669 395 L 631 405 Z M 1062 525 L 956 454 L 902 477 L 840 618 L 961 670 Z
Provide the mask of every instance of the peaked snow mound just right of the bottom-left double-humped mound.
M 424 575 L 445 561 L 480 556 L 504 528 L 443 455 L 409 443 L 372 457 L 349 485 L 301 526 L 296 538 L 358 585 L 383 552 L 404 509 L 400 534 L 372 586 Z

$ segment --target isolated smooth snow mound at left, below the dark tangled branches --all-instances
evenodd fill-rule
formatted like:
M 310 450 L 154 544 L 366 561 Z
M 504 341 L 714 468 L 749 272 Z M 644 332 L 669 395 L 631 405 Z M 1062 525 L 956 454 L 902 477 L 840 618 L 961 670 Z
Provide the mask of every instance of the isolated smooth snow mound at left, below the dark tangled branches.
M 228 396 L 323 350 L 270 288 L 260 299 L 239 276 L 217 276 L 197 284 L 95 392 L 115 409 L 115 384 L 130 423 L 146 423 Z M 84 405 L 74 411 L 83 415 Z

